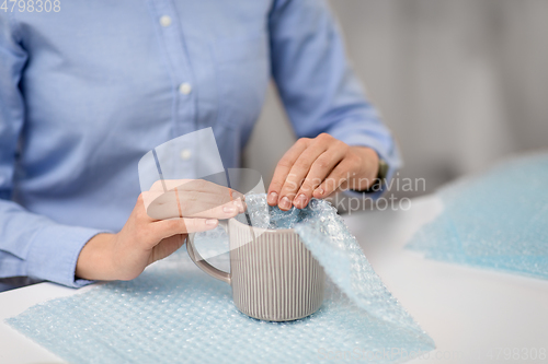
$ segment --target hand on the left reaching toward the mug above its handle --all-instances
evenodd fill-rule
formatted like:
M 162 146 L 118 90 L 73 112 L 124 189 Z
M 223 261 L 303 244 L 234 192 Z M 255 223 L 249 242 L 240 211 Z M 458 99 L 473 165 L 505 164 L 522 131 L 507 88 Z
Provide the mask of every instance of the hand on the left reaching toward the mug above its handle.
M 80 251 L 76 277 L 132 280 L 179 249 L 189 233 L 215 228 L 243 212 L 242 195 L 206 180 L 164 180 L 139 195 L 117 234 L 99 234 Z M 148 211 L 148 213 L 147 213 Z

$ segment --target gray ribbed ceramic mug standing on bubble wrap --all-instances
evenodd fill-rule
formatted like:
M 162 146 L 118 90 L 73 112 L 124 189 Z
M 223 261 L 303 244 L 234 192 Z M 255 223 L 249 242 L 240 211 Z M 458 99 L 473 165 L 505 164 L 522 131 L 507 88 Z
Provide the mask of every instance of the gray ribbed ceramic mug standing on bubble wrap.
M 296 320 L 313 314 L 323 302 L 326 274 L 293 228 L 251 227 L 230 219 L 230 273 L 204 260 L 190 234 L 189 256 L 203 271 L 232 286 L 236 307 L 253 318 Z

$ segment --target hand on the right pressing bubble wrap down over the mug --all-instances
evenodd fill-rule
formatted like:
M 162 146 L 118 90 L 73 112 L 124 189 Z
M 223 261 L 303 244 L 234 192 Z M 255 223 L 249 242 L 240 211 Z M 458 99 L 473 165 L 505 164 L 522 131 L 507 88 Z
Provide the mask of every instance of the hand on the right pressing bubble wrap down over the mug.
M 350 146 L 327 133 L 301 138 L 276 166 L 269 204 L 304 209 L 312 197 L 326 198 L 336 189 L 366 190 L 375 183 L 378 163 L 370 148 Z

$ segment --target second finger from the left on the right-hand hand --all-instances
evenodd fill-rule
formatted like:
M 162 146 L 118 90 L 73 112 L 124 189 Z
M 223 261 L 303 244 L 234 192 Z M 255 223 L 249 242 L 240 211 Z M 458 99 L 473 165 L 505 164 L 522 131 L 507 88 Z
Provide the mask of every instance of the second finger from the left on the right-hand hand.
M 279 191 L 278 206 L 282 210 L 289 210 L 292 201 L 297 195 L 300 185 L 308 175 L 312 163 L 328 149 L 328 145 L 321 141 L 315 140 L 300 156 L 295 161 L 289 174 L 287 175 L 284 186 Z

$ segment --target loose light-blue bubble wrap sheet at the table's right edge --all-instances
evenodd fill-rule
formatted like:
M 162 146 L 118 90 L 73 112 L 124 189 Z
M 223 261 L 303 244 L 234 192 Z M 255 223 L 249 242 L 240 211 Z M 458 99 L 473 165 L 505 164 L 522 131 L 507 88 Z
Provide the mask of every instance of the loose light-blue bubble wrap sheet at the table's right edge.
M 548 279 L 548 154 L 505 161 L 441 189 L 442 214 L 408 248 L 425 257 Z

